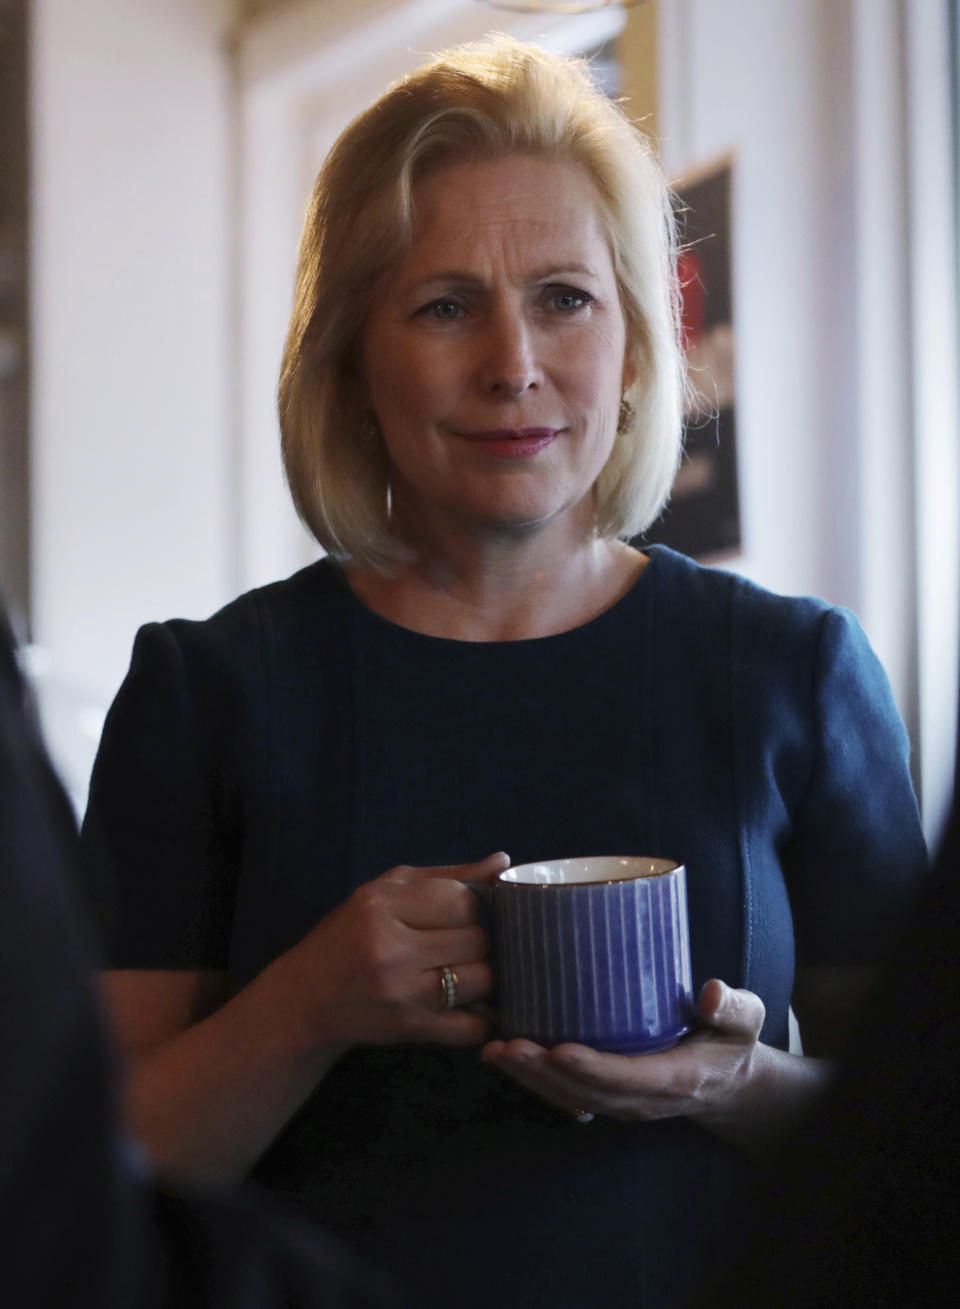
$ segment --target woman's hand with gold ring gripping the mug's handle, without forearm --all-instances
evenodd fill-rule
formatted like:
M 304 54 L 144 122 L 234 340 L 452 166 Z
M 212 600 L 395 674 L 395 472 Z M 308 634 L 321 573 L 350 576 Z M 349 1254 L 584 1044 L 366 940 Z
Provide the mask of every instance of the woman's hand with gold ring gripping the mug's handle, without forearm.
M 492 880 L 508 865 L 502 852 L 477 864 L 401 865 L 358 888 L 271 966 L 283 975 L 305 1045 L 486 1041 L 489 1021 L 466 1007 L 490 992 L 487 942 L 477 895 L 461 882 Z M 451 1011 L 444 966 L 457 975 Z

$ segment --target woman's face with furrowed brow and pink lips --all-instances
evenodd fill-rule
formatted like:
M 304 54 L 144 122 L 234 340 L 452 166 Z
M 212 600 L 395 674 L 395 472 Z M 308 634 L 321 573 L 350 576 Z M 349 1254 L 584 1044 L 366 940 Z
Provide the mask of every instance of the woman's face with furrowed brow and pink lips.
M 588 535 L 631 380 L 589 175 L 532 156 L 451 165 L 419 183 L 416 213 L 363 338 L 401 531 Z

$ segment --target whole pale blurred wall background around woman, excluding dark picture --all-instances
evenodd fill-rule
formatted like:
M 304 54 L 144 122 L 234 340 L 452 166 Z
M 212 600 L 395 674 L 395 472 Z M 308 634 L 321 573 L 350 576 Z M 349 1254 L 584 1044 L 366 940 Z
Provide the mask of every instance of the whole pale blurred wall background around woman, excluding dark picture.
M 389 80 L 489 30 L 591 55 L 688 204 L 707 402 L 650 539 L 859 615 L 935 836 L 957 0 L 0 0 L 0 586 L 75 804 L 139 624 L 316 556 L 274 412 L 305 200 Z

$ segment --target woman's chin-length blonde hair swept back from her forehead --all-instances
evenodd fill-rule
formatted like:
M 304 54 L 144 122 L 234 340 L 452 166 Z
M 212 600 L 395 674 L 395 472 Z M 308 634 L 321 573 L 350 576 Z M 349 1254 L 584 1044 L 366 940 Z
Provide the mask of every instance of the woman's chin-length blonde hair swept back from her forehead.
M 444 164 L 517 153 L 582 165 L 610 242 L 635 381 L 596 482 L 597 534 L 637 535 L 667 503 L 684 389 L 667 183 L 646 137 L 583 60 L 495 37 L 444 51 L 388 88 L 343 131 L 313 188 L 280 432 L 297 512 L 338 558 L 381 571 L 409 558 L 390 531 L 386 450 L 356 397 L 373 292 L 414 240 L 415 185 Z

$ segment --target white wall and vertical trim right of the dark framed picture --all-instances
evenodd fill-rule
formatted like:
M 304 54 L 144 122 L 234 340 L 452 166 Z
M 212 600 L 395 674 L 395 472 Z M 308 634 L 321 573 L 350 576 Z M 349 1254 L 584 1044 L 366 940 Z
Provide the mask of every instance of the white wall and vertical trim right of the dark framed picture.
M 663 0 L 659 13 L 668 170 L 736 156 L 735 567 L 859 615 L 917 747 L 934 839 L 960 596 L 947 5 Z

